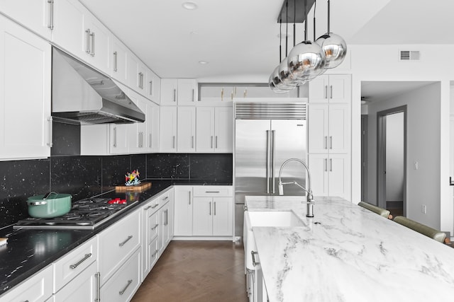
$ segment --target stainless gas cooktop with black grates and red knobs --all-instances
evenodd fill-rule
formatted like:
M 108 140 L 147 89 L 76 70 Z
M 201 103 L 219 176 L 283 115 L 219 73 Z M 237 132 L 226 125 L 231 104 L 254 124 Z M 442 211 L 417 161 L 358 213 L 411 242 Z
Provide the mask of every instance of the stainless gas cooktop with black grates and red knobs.
M 16 223 L 13 228 L 74 228 L 94 229 L 114 218 L 121 211 L 138 201 L 126 199 L 88 198 L 72 202 L 69 213 L 55 218 L 27 218 Z

